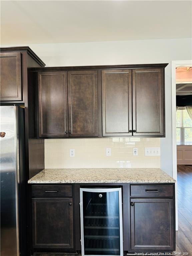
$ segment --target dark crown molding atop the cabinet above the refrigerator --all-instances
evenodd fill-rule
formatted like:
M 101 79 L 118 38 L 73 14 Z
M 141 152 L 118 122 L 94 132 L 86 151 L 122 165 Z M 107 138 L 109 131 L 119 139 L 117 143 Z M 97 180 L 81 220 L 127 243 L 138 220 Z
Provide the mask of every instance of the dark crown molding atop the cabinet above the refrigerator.
M 45 67 L 45 63 L 29 46 L 1 47 L 0 52 L 27 52 L 41 67 Z

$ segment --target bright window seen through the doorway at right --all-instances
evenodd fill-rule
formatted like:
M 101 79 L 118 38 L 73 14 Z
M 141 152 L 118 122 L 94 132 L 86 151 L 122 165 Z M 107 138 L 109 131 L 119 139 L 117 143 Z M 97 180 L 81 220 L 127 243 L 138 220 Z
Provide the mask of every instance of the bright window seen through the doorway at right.
M 176 114 L 177 145 L 192 145 L 192 120 L 186 107 L 178 107 Z

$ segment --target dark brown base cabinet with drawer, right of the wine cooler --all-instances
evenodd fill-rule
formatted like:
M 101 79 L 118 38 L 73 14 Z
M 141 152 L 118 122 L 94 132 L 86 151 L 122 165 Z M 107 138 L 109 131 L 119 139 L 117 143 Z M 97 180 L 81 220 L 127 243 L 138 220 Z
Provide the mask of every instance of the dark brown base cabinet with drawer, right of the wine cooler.
M 130 185 L 130 251 L 175 250 L 175 185 Z

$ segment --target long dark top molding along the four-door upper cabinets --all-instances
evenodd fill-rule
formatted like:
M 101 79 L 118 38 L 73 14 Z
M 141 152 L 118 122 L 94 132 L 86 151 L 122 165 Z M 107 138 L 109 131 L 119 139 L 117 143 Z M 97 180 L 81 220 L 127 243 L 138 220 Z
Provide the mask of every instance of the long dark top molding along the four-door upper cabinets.
M 165 68 L 168 64 L 169 63 L 102 65 L 102 66 L 71 66 L 71 67 L 44 67 L 44 68 L 32 68 L 31 70 L 33 70 L 33 71 L 69 71 L 69 70 Z

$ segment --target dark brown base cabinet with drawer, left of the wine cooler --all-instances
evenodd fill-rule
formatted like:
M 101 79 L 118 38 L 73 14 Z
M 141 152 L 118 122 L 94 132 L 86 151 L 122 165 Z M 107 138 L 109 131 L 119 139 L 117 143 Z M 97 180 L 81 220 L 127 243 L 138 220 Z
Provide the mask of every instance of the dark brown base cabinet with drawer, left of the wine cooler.
M 73 248 L 73 198 L 71 185 L 33 185 L 33 248 Z

